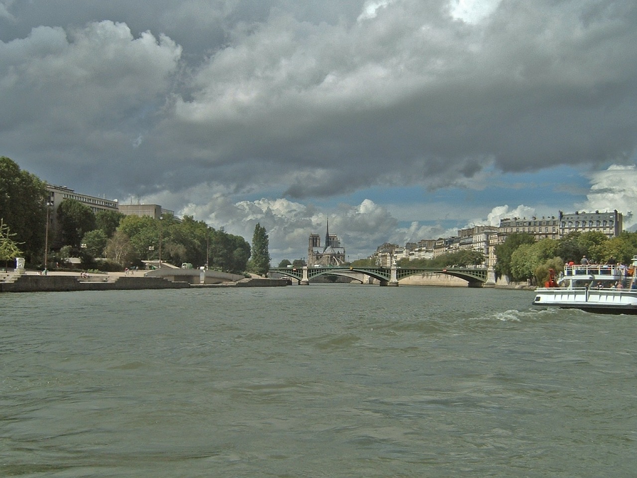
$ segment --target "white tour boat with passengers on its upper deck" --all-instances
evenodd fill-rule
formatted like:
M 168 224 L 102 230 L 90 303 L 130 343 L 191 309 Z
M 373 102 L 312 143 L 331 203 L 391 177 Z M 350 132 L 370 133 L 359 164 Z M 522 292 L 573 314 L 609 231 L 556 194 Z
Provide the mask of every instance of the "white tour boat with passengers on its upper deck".
M 535 289 L 533 305 L 579 308 L 600 314 L 637 314 L 637 256 L 622 264 L 564 266 L 557 279 L 551 270 L 545 287 Z

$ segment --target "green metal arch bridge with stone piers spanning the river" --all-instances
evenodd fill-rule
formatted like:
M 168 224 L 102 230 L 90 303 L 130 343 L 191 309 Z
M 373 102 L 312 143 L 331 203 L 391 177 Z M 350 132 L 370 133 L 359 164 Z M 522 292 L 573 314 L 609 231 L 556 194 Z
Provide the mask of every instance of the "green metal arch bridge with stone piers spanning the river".
M 276 272 L 286 275 L 292 279 L 299 281 L 301 285 L 310 284 L 310 280 L 318 275 L 334 274 L 353 277 L 354 273 L 358 275 L 366 275 L 380 281 L 381 286 L 398 286 L 398 281 L 410 275 L 420 275 L 423 273 L 431 274 L 447 274 L 468 282 L 469 287 L 482 287 L 483 284 L 495 284 L 496 275 L 491 268 L 468 268 L 468 267 L 447 267 L 447 268 L 431 268 L 431 267 L 353 267 L 353 266 L 324 266 L 324 267 L 308 267 L 291 268 L 291 267 L 273 267 L 269 272 Z M 362 281 L 361 281 L 362 282 Z

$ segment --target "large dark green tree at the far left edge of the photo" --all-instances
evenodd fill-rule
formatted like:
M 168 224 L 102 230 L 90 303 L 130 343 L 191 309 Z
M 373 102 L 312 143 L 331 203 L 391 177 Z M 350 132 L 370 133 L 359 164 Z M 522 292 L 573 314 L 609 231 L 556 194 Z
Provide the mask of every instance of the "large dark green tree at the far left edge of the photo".
M 15 242 L 24 249 L 27 263 L 44 255 L 47 185 L 37 176 L 20 170 L 8 157 L 0 157 L 0 218 Z

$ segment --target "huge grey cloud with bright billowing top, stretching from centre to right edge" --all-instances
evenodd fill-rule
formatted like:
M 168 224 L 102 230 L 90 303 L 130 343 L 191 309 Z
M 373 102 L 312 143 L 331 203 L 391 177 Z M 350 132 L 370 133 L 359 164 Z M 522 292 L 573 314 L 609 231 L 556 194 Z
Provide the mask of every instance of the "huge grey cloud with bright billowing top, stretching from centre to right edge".
M 162 131 L 211 171 L 294 171 L 296 197 L 447 185 L 491 162 L 621 161 L 637 126 L 635 7 L 594 7 L 507 2 L 476 25 L 406 1 L 352 25 L 271 17 L 196 71 Z

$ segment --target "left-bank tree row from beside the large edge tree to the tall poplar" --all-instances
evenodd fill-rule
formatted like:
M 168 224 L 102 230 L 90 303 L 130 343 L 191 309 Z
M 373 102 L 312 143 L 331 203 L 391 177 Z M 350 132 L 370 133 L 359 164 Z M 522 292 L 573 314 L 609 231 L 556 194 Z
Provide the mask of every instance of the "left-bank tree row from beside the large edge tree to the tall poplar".
M 171 214 L 160 219 L 113 211 L 93 215 L 88 206 L 75 199 L 62 202 L 58 220 L 65 244 L 62 256 L 79 256 L 84 263 L 108 257 L 122 266 L 154 260 L 232 273 L 254 270 L 264 275 L 269 269 L 268 235 L 260 224 L 251 247 L 243 237 L 211 228 L 192 216 L 179 221 Z M 249 262 L 251 255 L 253 260 Z

